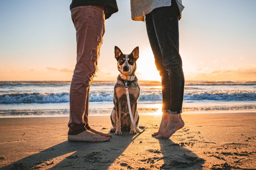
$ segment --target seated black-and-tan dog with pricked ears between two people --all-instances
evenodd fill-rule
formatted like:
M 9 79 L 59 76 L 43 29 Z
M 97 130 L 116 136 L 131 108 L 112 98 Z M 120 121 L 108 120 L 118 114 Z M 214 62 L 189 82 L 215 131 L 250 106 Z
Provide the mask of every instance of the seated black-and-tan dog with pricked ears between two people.
M 131 112 L 134 123 L 136 124 L 136 127 L 138 127 L 139 114 L 137 111 L 137 104 L 140 95 L 140 87 L 138 85 L 138 79 L 134 73 L 137 68 L 136 61 L 139 58 L 139 47 L 134 48 L 131 54 L 126 55 L 115 46 L 114 54 L 120 74 L 118 75 L 117 82 L 114 86 L 114 108 L 110 116 L 112 123 L 110 132 L 114 132 L 115 135 L 120 135 L 122 134 L 122 130 L 130 129 L 130 134 L 137 134 L 129 115 L 125 82 L 127 82 L 129 89 Z

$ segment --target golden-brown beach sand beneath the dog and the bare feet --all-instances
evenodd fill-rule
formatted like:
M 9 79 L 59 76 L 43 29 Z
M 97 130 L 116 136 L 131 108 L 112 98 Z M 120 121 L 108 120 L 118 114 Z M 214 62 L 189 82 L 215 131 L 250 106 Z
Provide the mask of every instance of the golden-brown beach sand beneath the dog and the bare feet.
M 256 114 L 182 114 L 184 128 L 156 139 L 161 116 L 141 115 L 143 133 L 110 142 L 67 141 L 68 117 L 0 119 L 3 169 L 255 169 Z M 89 117 L 108 133 L 109 116 Z

